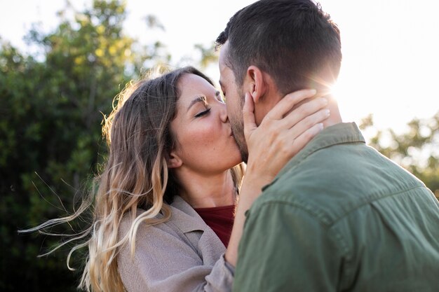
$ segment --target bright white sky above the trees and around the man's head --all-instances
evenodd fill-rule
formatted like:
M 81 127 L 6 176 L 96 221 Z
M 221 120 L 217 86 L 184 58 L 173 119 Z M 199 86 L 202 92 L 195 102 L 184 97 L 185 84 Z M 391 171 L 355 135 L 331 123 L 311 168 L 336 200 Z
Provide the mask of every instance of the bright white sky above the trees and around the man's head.
M 70 0 L 81 11 L 91 1 Z M 194 53 L 194 44 L 215 41 L 227 21 L 252 0 L 128 0 L 126 32 L 142 42 L 158 39 L 173 62 Z M 439 1 L 321 0 L 342 32 L 343 63 L 337 99 L 345 121 L 374 114 L 378 127 L 405 129 L 412 118 L 439 111 Z M 32 22 L 48 31 L 58 25 L 60 0 L 0 0 L 0 36 L 22 47 Z M 151 34 L 145 15 L 165 32 Z M 206 73 L 215 81 L 218 69 Z

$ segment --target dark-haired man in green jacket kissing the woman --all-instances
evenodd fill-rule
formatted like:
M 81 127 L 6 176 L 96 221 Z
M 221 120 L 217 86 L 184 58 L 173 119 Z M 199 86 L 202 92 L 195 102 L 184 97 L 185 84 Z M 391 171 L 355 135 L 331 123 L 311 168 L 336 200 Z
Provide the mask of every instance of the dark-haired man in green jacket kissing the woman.
M 261 0 L 217 38 L 220 84 L 248 157 L 241 109 L 255 121 L 288 92 L 328 95 L 342 61 L 339 29 L 310 0 Z M 355 96 L 353 96 L 355 98 Z M 439 202 L 412 174 L 342 123 L 335 99 L 320 132 L 248 210 L 234 291 L 439 291 Z M 250 153 L 251 155 L 251 153 Z

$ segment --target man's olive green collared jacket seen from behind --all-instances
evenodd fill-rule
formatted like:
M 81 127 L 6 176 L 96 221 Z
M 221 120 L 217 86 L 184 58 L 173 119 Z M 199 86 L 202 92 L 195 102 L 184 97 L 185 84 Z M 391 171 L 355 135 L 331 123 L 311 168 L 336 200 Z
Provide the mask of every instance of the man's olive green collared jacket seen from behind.
M 437 292 L 439 202 L 341 123 L 264 187 L 238 255 L 235 292 Z

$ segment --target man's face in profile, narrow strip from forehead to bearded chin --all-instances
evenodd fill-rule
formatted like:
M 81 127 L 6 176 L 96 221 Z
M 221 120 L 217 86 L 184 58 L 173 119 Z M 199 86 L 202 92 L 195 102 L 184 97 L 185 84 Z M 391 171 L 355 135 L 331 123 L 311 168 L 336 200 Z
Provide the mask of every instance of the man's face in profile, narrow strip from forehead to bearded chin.
M 248 149 L 247 143 L 245 142 L 243 123 L 245 95 L 243 94 L 242 88 L 236 84 L 234 72 L 227 67 L 227 50 L 229 50 L 228 41 L 222 46 L 219 52 L 219 85 L 221 85 L 221 90 L 226 99 L 227 115 L 229 116 L 231 130 L 234 134 L 236 144 L 238 144 L 243 162 L 247 162 Z

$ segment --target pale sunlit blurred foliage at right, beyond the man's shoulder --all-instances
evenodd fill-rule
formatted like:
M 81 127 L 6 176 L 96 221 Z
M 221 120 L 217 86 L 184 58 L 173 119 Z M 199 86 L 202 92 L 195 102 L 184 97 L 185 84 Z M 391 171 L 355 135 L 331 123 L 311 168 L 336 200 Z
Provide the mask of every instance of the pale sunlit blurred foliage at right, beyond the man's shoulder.
M 363 130 L 373 127 L 372 115 L 360 125 Z M 414 118 L 402 134 L 377 130 L 369 144 L 417 176 L 439 197 L 439 111 L 431 118 Z

